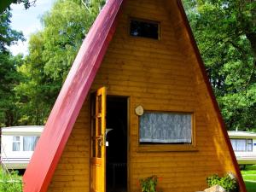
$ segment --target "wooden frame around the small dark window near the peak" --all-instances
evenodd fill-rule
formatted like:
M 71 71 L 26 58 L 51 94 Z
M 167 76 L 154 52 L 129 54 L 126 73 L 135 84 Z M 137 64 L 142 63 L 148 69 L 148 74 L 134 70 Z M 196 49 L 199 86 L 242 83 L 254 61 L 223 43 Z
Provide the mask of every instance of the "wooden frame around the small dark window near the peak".
M 132 20 L 157 24 L 158 25 L 158 38 L 148 38 L 148 37 L 131 35 L 131 21 Z M 161 22 L 159 20 L 148 20 L 148 19 L 143 19 L 143 18 L 138 18 L 138 17 L 130 17 L 128 19 L 128 36 L 131 38 L 142 38 L 142 39 L 148 39 L 148 40 L 153 40 L 153 41 L 160 41 L 161 40 Z

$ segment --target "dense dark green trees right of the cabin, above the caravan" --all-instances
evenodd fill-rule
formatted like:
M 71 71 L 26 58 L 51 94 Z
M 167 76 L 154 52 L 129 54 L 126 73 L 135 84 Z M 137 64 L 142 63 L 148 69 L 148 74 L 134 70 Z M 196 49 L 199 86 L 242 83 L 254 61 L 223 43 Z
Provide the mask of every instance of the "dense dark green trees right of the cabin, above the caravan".
M 256 125 L 256 3 L 184 0 L 195 39 L 229 129 Z

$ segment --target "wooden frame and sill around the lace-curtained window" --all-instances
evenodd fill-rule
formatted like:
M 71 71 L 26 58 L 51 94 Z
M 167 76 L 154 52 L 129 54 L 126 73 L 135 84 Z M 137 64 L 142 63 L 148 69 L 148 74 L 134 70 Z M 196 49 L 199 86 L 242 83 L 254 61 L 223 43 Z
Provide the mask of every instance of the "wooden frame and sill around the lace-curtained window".
M 185 113 L 191 114 L 191 143 L 140 143 L 140 117 L 137 116 L 137 152 L 198 151 L 196 148 L 195 112 L 145 110 L 144 113 Z

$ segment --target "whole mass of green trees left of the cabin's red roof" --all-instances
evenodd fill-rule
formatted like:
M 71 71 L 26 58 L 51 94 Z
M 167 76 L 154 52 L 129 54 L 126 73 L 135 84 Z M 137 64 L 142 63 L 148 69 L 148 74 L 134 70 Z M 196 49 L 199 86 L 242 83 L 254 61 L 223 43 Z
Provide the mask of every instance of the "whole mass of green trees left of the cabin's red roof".
M 85 8 L 80 0 L 57 0 L 42 17 L 44 29 L 31 36 L 25 58 L 9 53 L 8 46 L 24 38 L 10 28 L 9 10 L 0 15 L 0 126 L 44 125 L 103 4 L 93 0 Z

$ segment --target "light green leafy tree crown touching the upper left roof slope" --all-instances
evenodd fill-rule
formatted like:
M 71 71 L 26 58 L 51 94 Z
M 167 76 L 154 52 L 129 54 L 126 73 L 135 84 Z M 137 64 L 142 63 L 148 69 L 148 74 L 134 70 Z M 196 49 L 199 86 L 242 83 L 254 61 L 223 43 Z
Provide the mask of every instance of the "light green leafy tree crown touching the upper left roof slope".
M 50 78 L 63 81 L 79 50 L 85 33 L 93 19 L 90 13 L 73 1 L 58 1 L 44 15 L 43 38 L 44 73 Z

